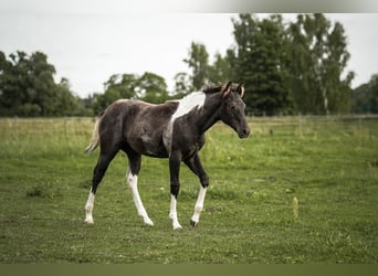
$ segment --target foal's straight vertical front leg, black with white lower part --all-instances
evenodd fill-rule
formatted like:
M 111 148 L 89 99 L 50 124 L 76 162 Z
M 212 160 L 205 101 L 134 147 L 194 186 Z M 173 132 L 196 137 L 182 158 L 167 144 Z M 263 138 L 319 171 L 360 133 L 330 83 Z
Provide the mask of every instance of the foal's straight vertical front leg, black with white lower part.
M 182 229 L 181 224 L 177 217 L 177 197 L 180 190 L 180 163 L 181 163 L 181 152 L 174 151 L 169 157 L 169 172 L 170 172 L 170 211 L 169 217 L 172 220 L 174 230 Z

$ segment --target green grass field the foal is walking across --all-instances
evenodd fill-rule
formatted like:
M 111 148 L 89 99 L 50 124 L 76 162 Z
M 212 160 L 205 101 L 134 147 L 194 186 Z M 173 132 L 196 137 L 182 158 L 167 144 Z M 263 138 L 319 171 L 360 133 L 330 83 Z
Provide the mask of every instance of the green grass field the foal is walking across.
M 0 263 L 378 263 L 378 118 L 250 125 L 246 140 L 221 124 L 208 132 L 210 188 L 197 229 L 199 183 L 182 166 L 183 229 L 172 231 L 167 160 L 144 158 L 139 174 L 154 227 L 136 213 L 122 153 L 87 225 L 93 119 L 0 119 Z

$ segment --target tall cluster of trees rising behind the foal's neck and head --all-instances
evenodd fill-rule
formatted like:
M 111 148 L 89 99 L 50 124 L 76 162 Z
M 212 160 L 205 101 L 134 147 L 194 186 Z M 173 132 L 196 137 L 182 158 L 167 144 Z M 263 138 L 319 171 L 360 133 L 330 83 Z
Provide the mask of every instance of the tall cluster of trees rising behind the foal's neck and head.
M 224 56 L 217 53 L 213 64 L 203 44 L 191 43 L 185 62 L 193 88 L 242 81 L 246 110 L 254 115 L 349 112 L 354 73 L 345 73 L 350 55 L 340 23 L 322 13 L 298 14 L 290 23 L 280 14 L 263 20 L 239 14 L 232 23 L 235 44 Z

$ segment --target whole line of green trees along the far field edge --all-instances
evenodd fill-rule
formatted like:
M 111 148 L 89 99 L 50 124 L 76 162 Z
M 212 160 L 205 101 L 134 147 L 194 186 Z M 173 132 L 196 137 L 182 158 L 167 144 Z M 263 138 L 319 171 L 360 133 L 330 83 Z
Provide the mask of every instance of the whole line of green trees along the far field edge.
M 213 62 L 206 45 L 192 42 L 183 62 L 189 72 L 175 76 L 175 92 L 164 77 L 114 74 L 103 93 L 74 95 L 69 79 L 54 81 L 55 68 L 44 53 L 0 52 L 0 116 L 92 116 L 118 98 L 162 103 L 208 83 L 244 82 L 249 115 L 378 113 L 378 74 L 351 89 L 346 72 L 350 54 L 343 25 L 324 14 L 281 14 L 232 19 L 234 43 Z

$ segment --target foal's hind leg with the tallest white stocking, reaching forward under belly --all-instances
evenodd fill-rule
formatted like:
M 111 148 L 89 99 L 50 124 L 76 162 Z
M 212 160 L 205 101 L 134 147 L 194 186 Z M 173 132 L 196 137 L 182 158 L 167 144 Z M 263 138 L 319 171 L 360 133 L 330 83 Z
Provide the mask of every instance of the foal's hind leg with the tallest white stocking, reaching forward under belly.
M 149 219 L 138 192 L 138 172 L 140 170 L 141 156 L 132 150 L 125 150 L 125 152 L 127 153 L 129 162 L 126 180 L 132 190 L 134 204 L 138 211 L 138 215 L 143 217 L 145 224 L 154 226 L 154 222 Z

